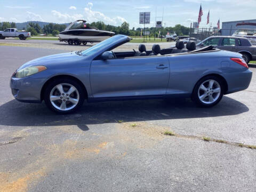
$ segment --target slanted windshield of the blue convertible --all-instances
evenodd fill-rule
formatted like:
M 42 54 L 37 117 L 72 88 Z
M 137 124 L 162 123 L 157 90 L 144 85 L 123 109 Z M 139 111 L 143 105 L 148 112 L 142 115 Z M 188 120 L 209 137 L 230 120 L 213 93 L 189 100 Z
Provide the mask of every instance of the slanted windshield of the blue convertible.
M 94 45 L 94 46 L 90 47 L 89 49 L 84 50 L 78 54 L 83 55 L 83 56 L 90 56 L 96 52 L 99 52 L 102 49 L 106 49 L 107 46 L 109 46 L 109 44 L 112 44 L 117 39 L 120 39 L 120 36 L 116 35 L 114 37 L 110 37 L 110 38 L 106 39 L 105 41 L 102 41 L 102 42 L 98 43 L 97 45 Z

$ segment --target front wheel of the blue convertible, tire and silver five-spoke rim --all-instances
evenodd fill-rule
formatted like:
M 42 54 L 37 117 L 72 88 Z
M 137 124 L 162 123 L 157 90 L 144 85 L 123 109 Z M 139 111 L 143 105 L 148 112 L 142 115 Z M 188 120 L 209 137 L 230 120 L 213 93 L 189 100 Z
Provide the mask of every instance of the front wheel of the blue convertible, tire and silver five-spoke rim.
M 70 91 L 71 87 L 73 91 Z M 58 114 L 73 113 L 83 105 L 84 99 L 81 84 L 69 78 L 55 79 L 47 84 L 44 90 L 46 106 Z

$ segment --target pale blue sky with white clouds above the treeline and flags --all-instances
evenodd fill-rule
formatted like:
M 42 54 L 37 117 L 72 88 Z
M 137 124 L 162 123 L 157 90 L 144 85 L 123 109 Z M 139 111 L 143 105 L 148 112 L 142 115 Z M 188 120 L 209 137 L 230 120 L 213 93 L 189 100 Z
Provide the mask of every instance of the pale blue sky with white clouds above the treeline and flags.
M 139 12 L 151 12 L 150 24 L 155 20 L 161 21 L 163 26 L 173 27 L 181 24 L 190 27 L 190 23 L 197 21 L 200 4 L 203 16 L 200 27 L 206 26 L 207 13 L 210 10 L 210 23 L 217 26 L 217 22 L 256 19 L 256 0 L 129 0 L 129 1 L 70 1 L 70 0 L 0 0 L 0 22 L 13 21 L 45 21 L 67 23 L 77 19 L 87 22 L 103 21 L 106 24 L 119 26 L 124 21 L 130 28 L 143 27 L 139 24 Z M 164 14 L 163 14 L 164 13 Z

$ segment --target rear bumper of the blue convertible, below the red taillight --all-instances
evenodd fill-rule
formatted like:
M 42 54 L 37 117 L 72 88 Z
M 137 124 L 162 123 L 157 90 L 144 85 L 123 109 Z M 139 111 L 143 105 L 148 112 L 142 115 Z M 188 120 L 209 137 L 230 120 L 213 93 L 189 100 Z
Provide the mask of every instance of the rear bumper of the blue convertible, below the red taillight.
M 249 87 L 252 79 L 252 71 L 247 69 L 242 73 L 226 73 L 224 77 L 228 84 L 228 90 L 226 94 L 234 93 L 237 91 L 245 90 Z

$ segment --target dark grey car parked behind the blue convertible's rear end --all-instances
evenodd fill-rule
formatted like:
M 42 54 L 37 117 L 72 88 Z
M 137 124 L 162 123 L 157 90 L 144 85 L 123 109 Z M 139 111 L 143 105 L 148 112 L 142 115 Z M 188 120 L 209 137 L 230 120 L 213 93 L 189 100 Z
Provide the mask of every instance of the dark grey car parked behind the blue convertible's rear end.
M 246 63 L 251 60 L 256 60 L 256 46 L 244 37 L 234 36 L 212 36 L 204 39 L 204 41 L 198 43 L 198 48 L 207 45 L 213 45 L 221 50 L 233 51 L 241 53 Z

